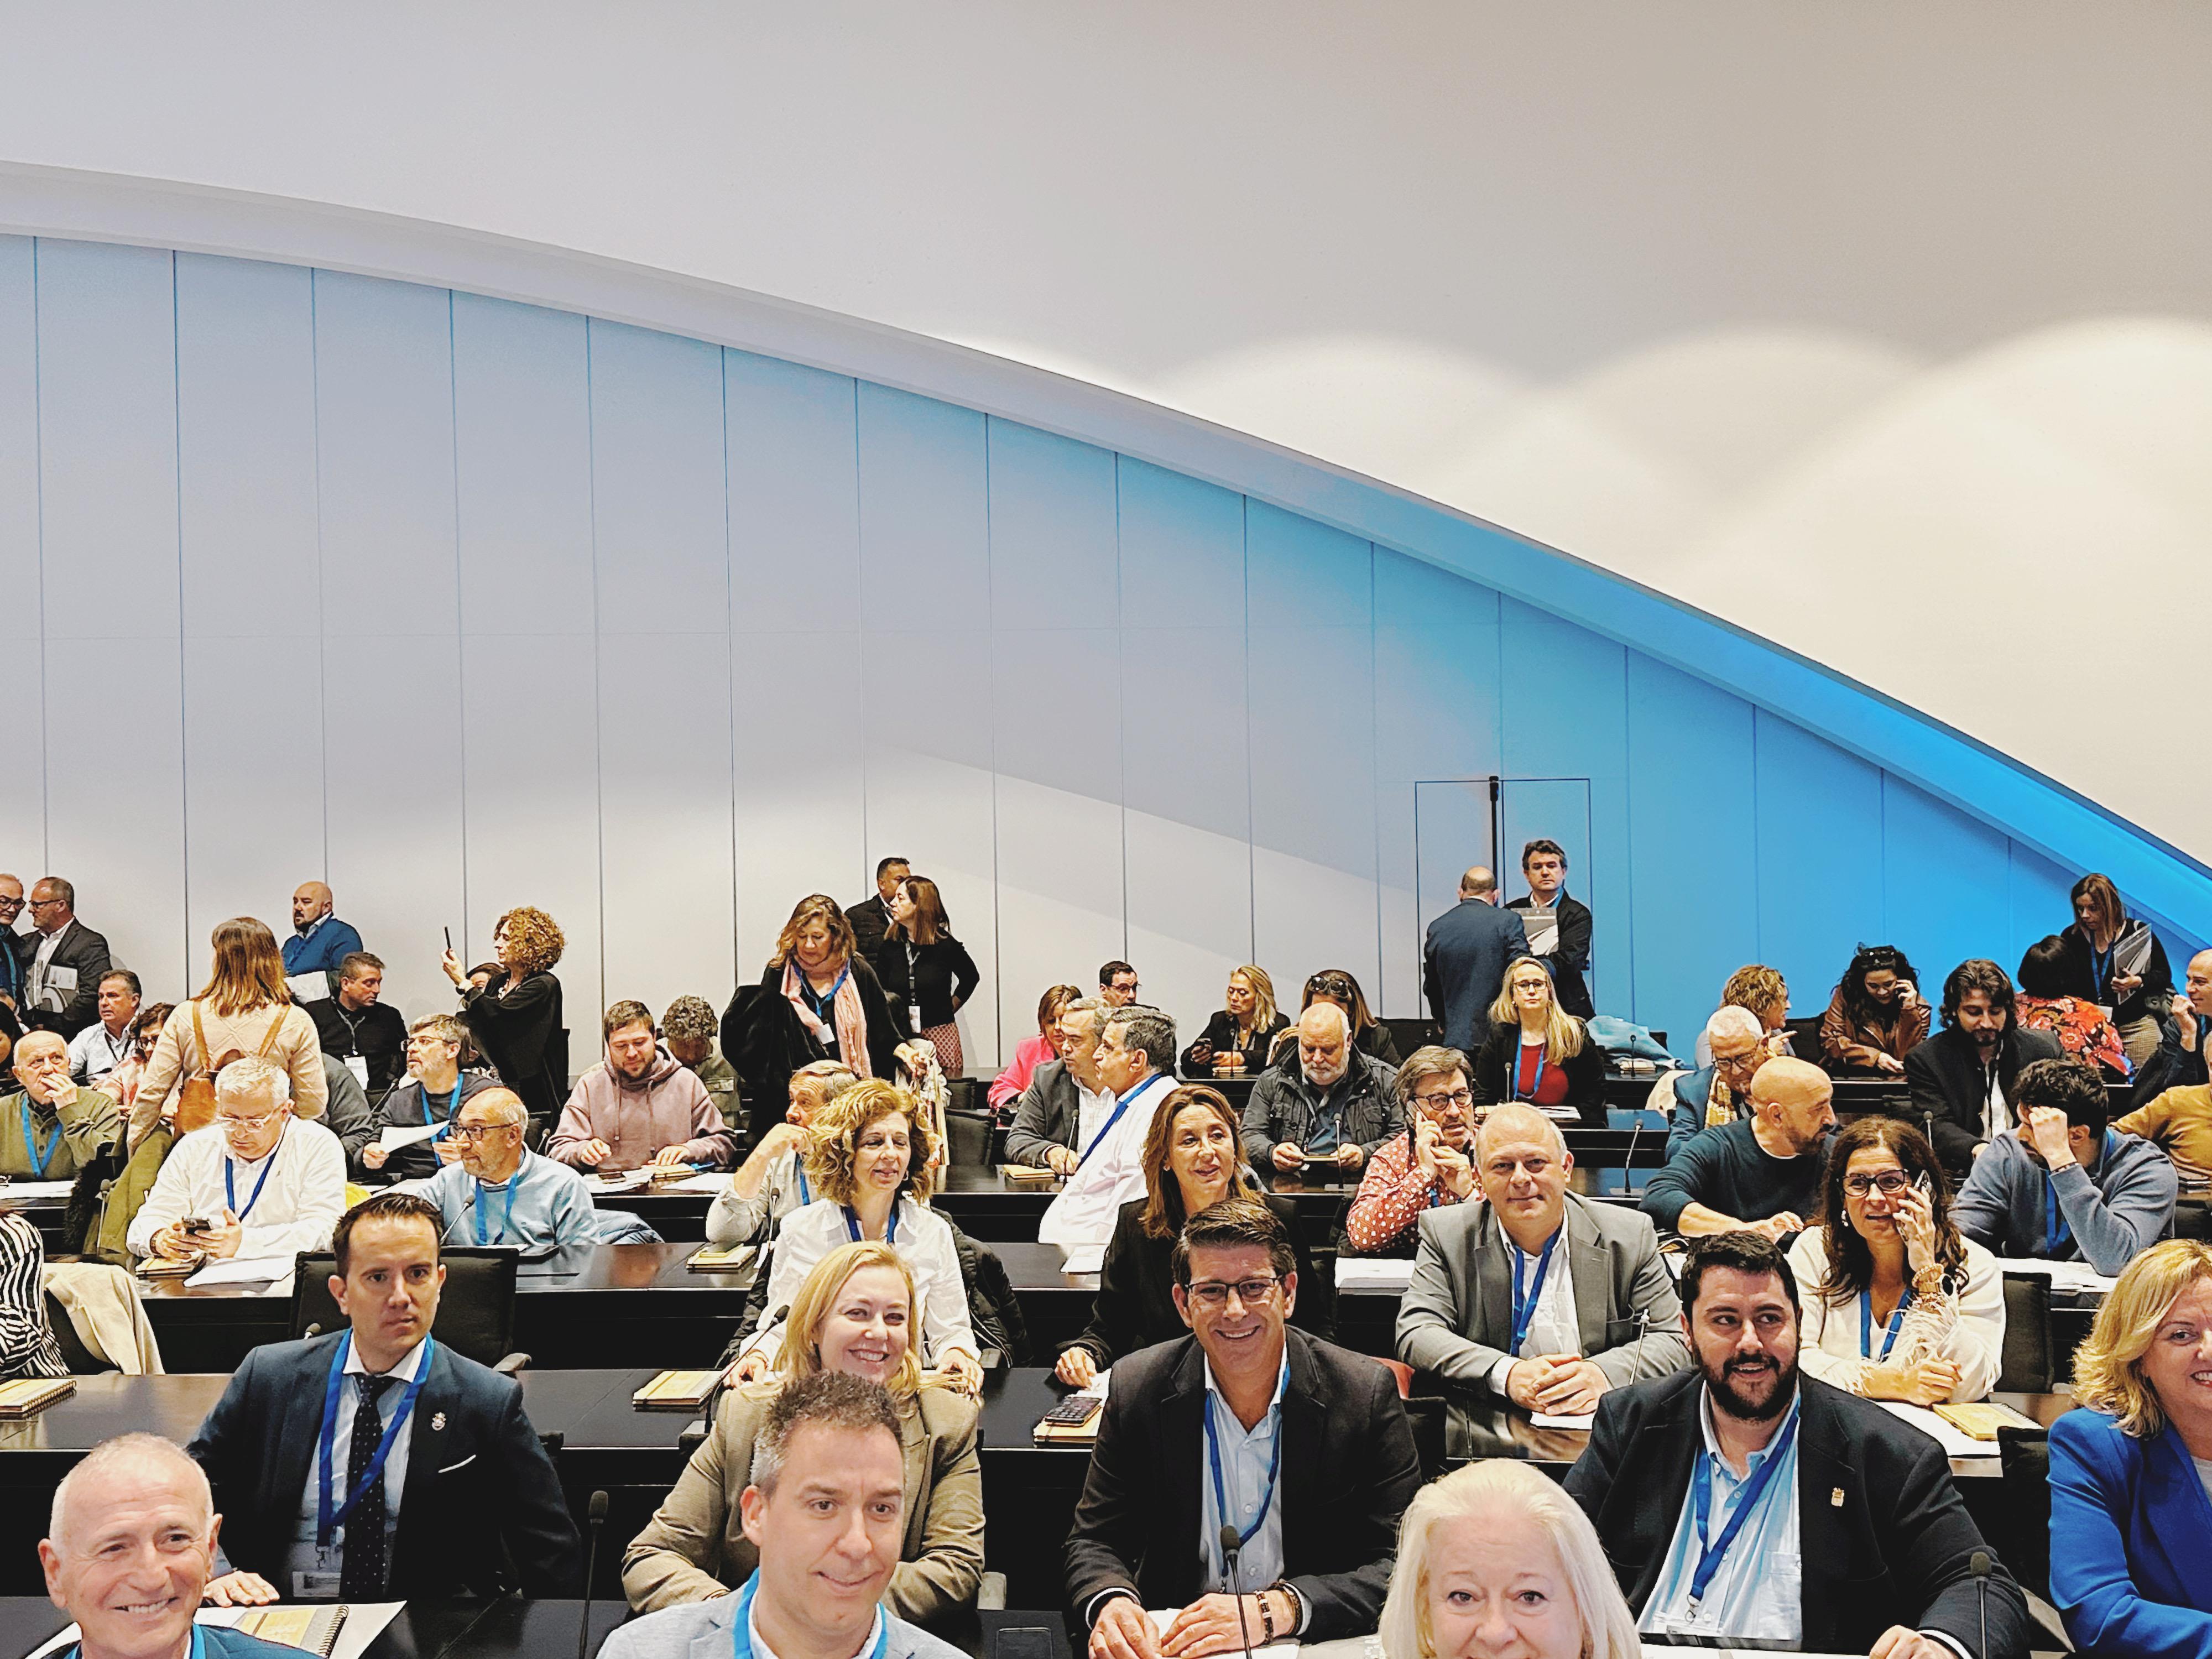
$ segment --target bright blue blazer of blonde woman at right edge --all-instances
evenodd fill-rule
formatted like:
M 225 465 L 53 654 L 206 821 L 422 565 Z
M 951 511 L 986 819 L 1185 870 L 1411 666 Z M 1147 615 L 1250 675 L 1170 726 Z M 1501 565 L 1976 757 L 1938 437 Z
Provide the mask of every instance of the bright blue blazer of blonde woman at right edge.
M 2212 1498 L 2172 1427 L 2051 1425 L 2051 1599 L 2077 1648 L 2212 1659 Z

